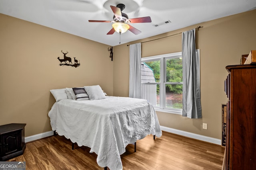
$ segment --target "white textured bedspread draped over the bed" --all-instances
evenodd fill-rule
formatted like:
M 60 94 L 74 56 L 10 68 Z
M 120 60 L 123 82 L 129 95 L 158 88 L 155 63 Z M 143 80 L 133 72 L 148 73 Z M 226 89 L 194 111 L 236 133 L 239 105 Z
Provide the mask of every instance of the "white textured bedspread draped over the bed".
M 52 106 L 48 116 L 52 130 L 78 146 L 90 147 L 98 154 L 98 165 L 111 170 L 122 169 L 120 154 L 128 144 L 149 134 L 162 135 L 156 112 L 144 99 L 64 99 Z

